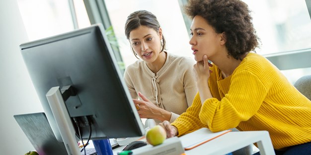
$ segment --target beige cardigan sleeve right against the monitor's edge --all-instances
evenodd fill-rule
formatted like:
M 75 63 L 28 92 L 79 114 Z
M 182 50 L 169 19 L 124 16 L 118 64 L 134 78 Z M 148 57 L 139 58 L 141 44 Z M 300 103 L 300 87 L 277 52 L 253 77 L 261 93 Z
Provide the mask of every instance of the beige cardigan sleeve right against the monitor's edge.
M 131 66 L 128 66 L 125 69 L 124 81 L 125 81 L 127 87 L 129 88 L 132 99 L 138 99 L 138 95 L 136 93 L 134 83 L 133 83 L 133 81 L 135 80 L 135 74 L 136 74 L 136 70 L 134 68 L 132 68 Z

